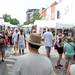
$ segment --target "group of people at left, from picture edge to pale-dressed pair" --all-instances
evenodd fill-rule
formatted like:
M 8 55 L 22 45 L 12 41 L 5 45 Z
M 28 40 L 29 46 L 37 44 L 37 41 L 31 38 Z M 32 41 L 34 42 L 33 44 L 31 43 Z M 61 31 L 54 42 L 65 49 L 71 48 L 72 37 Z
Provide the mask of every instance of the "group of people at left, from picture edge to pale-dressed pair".
M 22 29 L 15 28 L 11 30 L 8 28 L 0 33 L 0 53 L 2 55 L 2 61 L 4 61 L 5 52 L 8 50 L 8 46 L 14 46 L 14 54 L 24 54 L 25 49 L 25 33 Z M 21 50 L 22 49 L 22 50 Z

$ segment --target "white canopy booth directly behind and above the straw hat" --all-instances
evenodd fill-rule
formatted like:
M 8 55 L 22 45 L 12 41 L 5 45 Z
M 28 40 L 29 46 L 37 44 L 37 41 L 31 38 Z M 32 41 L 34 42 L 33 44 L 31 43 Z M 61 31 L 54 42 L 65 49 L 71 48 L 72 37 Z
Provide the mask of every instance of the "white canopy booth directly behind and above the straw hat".
M 34 25 L 37 26 L 37 33 L 43 33 L 44 30 L 47 31 L 48 28 L 55 29 L 56 22 L 53 20 L 36 20 Z

